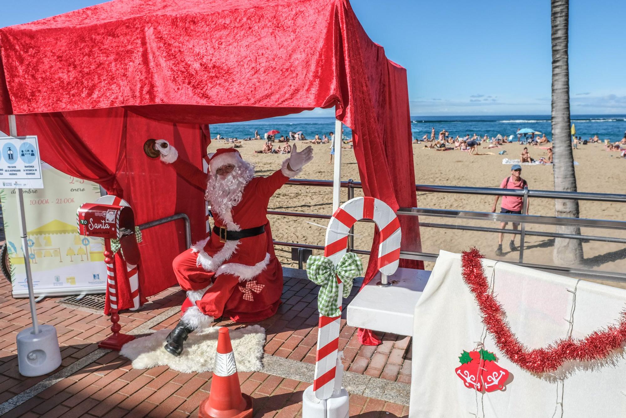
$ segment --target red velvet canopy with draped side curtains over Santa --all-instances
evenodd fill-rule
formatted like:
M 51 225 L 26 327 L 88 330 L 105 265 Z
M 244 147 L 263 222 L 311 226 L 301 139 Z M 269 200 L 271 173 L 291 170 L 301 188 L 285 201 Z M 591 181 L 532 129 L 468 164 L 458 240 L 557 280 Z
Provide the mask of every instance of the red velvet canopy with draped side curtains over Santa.
M 39 135 L 48 164 L 129 201 L 137 222 L 187 212 L 194 238 L 204 229 L 202 192 L 146 159 L 145 138 L 173 139 L 201 167 L 200 124 L 335 105 L 365 194 L 416 206 L 406 70 L 348 0 L 114 0 L 1 28 L 0 60 L 0 114 Z M 414 226 L 403 248 L 419 249 Z M 175 283 L 180 248 L 165 243 L 180 229 L 146 232 L 144 295 Z

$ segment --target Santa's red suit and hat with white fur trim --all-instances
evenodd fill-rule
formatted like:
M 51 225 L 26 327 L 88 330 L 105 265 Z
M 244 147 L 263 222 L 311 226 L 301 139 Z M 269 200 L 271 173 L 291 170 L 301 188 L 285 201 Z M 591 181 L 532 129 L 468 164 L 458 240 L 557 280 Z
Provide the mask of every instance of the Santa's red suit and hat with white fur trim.
M 172 148 L 162 160 L 172 163 L 178 174 L 192 184 L 207 187 L 207 175 L 178 159 L 177 154 Z M 214 173 L 222 165 L 242 162 L 237 150 L 220 149 L 210 160 L 210 170 Z M 176 278 L 188 296 L 182 306 L 182 320 L 192 328 L 205 327 L 220 316 L 249 322 L 276 313 L 282 295 L 282 267 L 274 254 L 267 206 L 274 192 L 300 172 L 290 170 L 288 163 L 289 159 L 285 160 L 282 168 L 269 177 L 253 177 L 230 212 L 216 213 L 215 206 L 212 208 L 222 238 L 224 228 L 242 231 L 264 226 L 264 233 L 223 242 L 214 232 L 174 259 Z

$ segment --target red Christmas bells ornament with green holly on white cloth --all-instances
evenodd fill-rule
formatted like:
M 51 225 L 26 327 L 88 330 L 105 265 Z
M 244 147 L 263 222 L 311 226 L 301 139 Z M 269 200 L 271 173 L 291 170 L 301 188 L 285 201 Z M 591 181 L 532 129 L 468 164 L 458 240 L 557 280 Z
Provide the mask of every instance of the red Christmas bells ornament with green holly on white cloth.
M 459 379 L 463 380 L 465 387 L 475 389 L 478 392 L 495 392 L 505 390 L 509 372 L 496 363 L 496 356 L 481 349 L 466 352 L 459 356 L 461 365 L 454 369 Z

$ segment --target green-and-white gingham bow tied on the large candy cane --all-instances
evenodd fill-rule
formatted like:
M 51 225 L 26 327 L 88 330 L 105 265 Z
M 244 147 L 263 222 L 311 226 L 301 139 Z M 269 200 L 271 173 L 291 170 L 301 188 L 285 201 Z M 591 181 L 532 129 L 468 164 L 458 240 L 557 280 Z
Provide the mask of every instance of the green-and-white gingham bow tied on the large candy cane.
M 339 299 L 339 277 L 344 284 L 344 298 L 350 295 L 352 281 L 363 274 L 363 263 L 354 253 L 346 253 L 337 266 L 332 264 L 331 259 L 324 256 L 310 256 L 307 260 L 307 276 L 316 285 L 321 285 L 317 295 L 317 310 L 324 316 L 334 318 L 341 315 L 337 306 Z

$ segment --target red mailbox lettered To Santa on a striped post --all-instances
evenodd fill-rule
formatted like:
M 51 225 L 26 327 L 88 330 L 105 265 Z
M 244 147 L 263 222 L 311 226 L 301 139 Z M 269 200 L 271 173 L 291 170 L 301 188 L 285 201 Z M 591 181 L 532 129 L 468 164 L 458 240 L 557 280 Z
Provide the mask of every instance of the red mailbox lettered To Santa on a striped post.
M 135 239 L 135 214 L 130 206 L 85 203 L 78 208 L 78 233 L 105 239 L 119 239 L 126 263 L 139 262 Z

